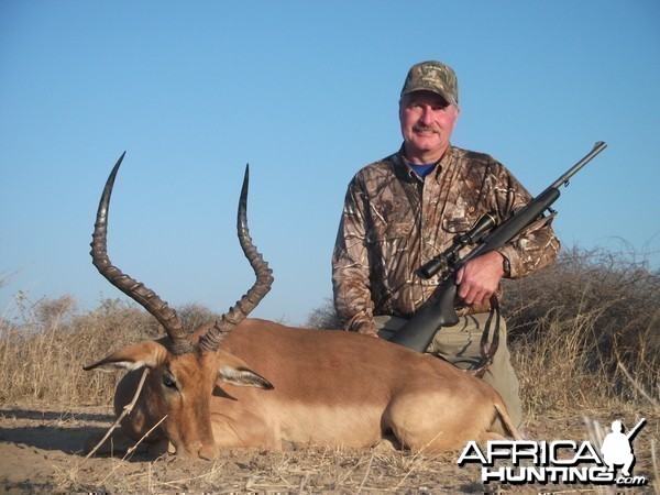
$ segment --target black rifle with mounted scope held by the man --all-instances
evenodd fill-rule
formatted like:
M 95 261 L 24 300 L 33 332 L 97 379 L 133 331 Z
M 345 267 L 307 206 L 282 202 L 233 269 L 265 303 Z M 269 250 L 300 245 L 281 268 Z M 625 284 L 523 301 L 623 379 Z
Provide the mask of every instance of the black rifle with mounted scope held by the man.
M 438 302 L 425 306 L 394 333 L 389 341 L 417 352 L 425 352 L 441 327 L 457 324 L 459 317 L 454 308 L 454 301 L 458 286 L 454 282 L 454 275 L 459 268 L 476 256 L 502 248 L 524 232 L 530 224 L 541 219 L 546 210 L 554 215 L 554 210 L 550 206 L 557 201 L 561 194 L 559 187 L 562 185 L 568 186 L 570 178 L 606 146 L 607 144 L 603 141 L 598 141 L 580 162 L 499 226 L 495 226 L 496 217 L 494 212 L 484 215 L 468 233 L 457 235 L 449 249 L 421 266 L 419 274 L 425 278 L 431 278 L 441 270 L 447 270 L 436 289 L 436 294 L 439 295 Z M 459 252 L 463 248 L 472 245 L 476 245 L 476 248 L 465 256 L 460 257 Z

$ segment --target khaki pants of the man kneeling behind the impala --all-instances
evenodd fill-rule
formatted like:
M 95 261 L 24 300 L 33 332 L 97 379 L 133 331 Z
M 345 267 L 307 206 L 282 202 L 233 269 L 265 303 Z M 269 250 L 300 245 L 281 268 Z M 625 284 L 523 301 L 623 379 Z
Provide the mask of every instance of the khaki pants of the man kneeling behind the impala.
M 442 358 L 461 370 L 481 363 L 481 338 L 488 314 L 470 315 L 460 318 L 458 324 L 443 327 L 436 332 L 426 352 Z M 408 320 L 391 316 L 374 318 L 378 336 L 388 339 Z M 494 323 L 493 323 L 494 327 Z M 491 330 L 493 331 L 493 330 Z M 483 377 L 502 396 L 508 414 L 516 427 L 522 424 L 518 377 L 512 366 L 509 350 L 506 345 L 506 322 L 499 318 L 499 346 L 493 356 L 493 363 Z

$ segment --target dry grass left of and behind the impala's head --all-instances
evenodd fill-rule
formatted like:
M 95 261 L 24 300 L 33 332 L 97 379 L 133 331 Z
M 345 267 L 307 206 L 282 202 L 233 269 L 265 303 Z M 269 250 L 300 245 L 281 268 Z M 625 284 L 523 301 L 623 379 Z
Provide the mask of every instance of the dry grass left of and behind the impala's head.
M 177 310 L 193 328 L 217 318 L 197 305 Z M 6 377 L 0 404 L 108 404 L 121 376 L 84 372 L 82 366 L 162 334 L 151 315 L 123 300 L 106 299 L 92 311 L 80 311 L 70 296 L 31 302 L 20 295 L 14 321 L 0 320 L 0 373 Z

